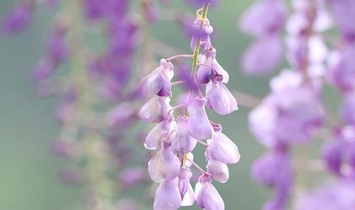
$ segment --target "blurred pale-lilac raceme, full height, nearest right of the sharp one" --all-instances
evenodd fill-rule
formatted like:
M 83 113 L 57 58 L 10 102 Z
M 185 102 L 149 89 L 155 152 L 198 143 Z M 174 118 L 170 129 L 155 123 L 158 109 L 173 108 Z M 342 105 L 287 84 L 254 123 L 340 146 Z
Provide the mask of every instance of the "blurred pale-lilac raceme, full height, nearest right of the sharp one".
M 254 179 L 276 191 L 263 209 L 285 209 L 295 182 L 290 150 L 309 143 L 324 123 L 320 77 L 327 48 L 320 33 L 332 21 L 321 3 L 293 1 L 285 39 L 292 70 L 271 79 L 271 93 L 249 115 L 252 133 L 271 149 L 252 168 Z

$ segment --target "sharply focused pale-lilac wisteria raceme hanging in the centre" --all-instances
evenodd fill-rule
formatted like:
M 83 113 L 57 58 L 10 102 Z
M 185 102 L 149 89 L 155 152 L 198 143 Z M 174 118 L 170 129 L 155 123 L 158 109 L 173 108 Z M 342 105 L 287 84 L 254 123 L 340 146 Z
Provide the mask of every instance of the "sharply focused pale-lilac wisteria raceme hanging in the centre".
M 200 10 L 202 15 L 197 13 L 195 23 L 189 28 L 194 55 L 162 59 L 160 67 L 141 80 L 141 92 L 149 99 L 139 116 L 143 121 L 158 123 L 144 140 L 146 148 L 158 150 L 148 162 L 151 179 L 160 183 L 155 192 L 154 210 L 176 210 L 195 201 L 202 209 L 224 209 L 224 201 L 212 180 L 225 183 L 229 179 L 227 164 L 240 159 L 237 146 L 222 133 L 222 126 L 209 121 L 206 112 L 206 107 L 222 115 L 238 109 L 236 99 L 226 87 L 229 74 L 217 62 L 209 38 L 213 28 L 205 17 L 207 9 L 205 5 Z M 179 69 L 175 70 L 171 61 L 178 57 L 193 58 L 192 73 L 190 77 L 182 77 L 184 81 L 172 82 L 174 71 Z M 176 84 L 185 84 L 189 92 L 182 104 L 172 107 L 170 98 Z M 206 84 L 205 96 L 202 84 Z M 182 113 L 175 118 L 178 109 Z M 197 144 L 206 148 L 207 171 L 193 161 L 192 152 Z M 202 172 L 195 191 L 190 184 L 192 165 Z

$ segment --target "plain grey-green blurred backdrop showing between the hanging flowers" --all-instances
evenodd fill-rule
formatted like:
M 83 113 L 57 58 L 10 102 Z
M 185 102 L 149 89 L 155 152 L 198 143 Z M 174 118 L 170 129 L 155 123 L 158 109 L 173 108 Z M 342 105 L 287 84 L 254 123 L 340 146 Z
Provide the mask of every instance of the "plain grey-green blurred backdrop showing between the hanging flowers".
M 0 1 L 0 17 L 14 2 Z M 219 63 L 231 75 L 229 88 L 262 97 L 268 92 L 269 78 L 246 77 L 239 68 L 239 57 L 251 38 L 242 34 L 237 24 L 241 12 L 251 2 L 224 0 L 210 10 L 209 20 L 214 26 L 213 44 Z M 192 6 L 180 0 L 173 0 L 172 7 L 194 12 Z M 80 209 L 83 201 L 80 187 L 58 181 L 58 171 L 65 160 L 50 153 L 50 145 L 60 132 L 54 116 L 59 99 L 38 99 L 31 81 L 31 69 L 43 53 L 46 29 L 54 13 L 50 9 L 36 9 L 31 26 L 24 33 L 0 34 L 0 209 Z M 175 22 L 160 21 L 152 31 L 164 43 L 188 52 L 190 41 Z M 224 133 L 234 140 L 241 152 L 241 161 L 229 166 L 229 182 L 216 183 L 229 210 L 261 209 L 271 196 L 250 177 L 251 163 L 264 149 L 249 133 L 248 113 L 249 109 L 243 106 L 229 116 L 210 113 L 214 121 L 222 123 Z M 139 146 L 143 149 L 143 145 Z M 202 151 L 197 151 L 195 156 L 198 155 L 202 157 Z

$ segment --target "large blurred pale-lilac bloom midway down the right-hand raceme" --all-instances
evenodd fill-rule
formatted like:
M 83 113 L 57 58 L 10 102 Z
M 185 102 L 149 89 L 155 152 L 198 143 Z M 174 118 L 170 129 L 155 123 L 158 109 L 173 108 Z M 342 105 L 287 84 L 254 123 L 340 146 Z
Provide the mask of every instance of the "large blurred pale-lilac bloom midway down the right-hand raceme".
M 275 77 L 271 81 L 273 92 L 249 115 L 251 131 L 263 145 L 305 143 L 322 125 L 320 96 L 310 87 L 300 87 L 300 78 L 292 71 Z

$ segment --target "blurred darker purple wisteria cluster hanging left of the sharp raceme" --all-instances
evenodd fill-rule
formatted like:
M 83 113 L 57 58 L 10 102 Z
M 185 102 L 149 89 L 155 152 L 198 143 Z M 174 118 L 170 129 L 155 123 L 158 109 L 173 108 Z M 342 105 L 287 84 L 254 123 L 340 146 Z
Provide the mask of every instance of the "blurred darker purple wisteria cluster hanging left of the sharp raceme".
M 137 21 L 128 0 L 24 0 L 4 17 L 2 29 L 11 34 L 25 30 L 35 9 L 43 4 L 58 4 L 59 9 L 44 56 L 33 69 L 33 80 L 40 96 L 55 94 L 62 98 L 57 111 L 62 131 L 52 151 L 70 161 L 59 177 L 68 184 L 84 185 L 87 209 L 140 209 L 138 203 L 122 194 L 148 178 L 141 167 L 128 166 L 137 158 L 126 135 L 131 135 L 129 128 L 138 123 L 143 97 L 127 84 L 140 79 L 132 65 L 138 52 L 138 35 L 143 33 L 138 21 L 143 21 L 142 26 L 154 21 L 152 4 L 144 1 L 140 5 L 144 12 Z M 95 24 L 107 26 L 104 52 L 97 53 L 85 41 L 87 34 L 97 30 Z M 63 64 L 71 66 L 68 74 L 59 72 Z M 109 101 L 118 105 L 113 107 Z M 140 162 L 144 155 L 138 157 L 142 158 Z

